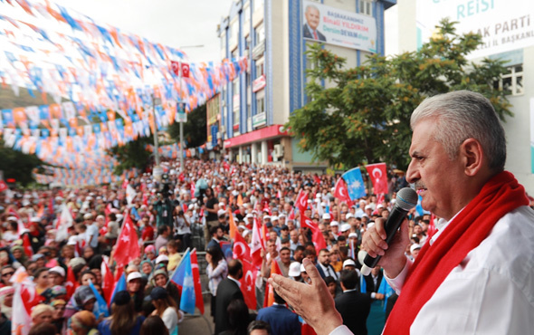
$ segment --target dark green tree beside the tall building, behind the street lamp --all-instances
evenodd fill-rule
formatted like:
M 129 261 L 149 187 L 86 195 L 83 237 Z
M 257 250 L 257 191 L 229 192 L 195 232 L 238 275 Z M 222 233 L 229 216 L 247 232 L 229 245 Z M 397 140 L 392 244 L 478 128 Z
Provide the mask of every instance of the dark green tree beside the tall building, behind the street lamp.
M 184 141 L 186 141 L 186 148 L 200 147 L 205 144 L 205 140 L 207 139 L 205 118 L 205 104 L 195 108 L 195 110 L 191 110 L 187 114 L 187 122 L 184 123 Z M 169 126 L 167 132 L 177 143 L 180 142 L 180 124 L 178 122 Z

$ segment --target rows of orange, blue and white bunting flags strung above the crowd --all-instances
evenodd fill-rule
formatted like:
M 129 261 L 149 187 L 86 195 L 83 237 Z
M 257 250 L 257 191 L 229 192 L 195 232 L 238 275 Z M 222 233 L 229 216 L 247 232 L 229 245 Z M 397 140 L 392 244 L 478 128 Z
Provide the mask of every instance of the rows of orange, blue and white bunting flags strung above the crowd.
M 0 13 L 0 83 L 16 95 L 39 91 L 45 103 L 0 110 L 0 135 L 6 147 L 63 168 L 51 176 L 76 183 L 115 178 L 106 149 L 164 129 L 178 109 L 204 104 L 248 67 L 246 57 L 188 62 L 181 50 L 48 0 L 0 2 Z M 88 168 L 96 172 L 73 171 Z

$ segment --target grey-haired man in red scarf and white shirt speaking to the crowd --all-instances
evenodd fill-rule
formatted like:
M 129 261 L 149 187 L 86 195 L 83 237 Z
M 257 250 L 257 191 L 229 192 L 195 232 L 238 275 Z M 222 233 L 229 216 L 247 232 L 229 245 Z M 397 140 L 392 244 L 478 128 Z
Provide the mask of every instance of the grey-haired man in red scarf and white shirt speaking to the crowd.
M 404 252 L 407 221 L 386 245 L 385 219 L 362 247 L 399 293 L 385 334 L 528 334 L 534 329 L 534 212 L 504 171 L 506 139 L 490 101 L 454 91 L 426 99 L 411 118 L 406 180 L 422 206 L 442 217 L 415 262 Z M 312 285 L 274 276 L 273 287 L 318 334 L 350 334 L 326 285 L 304 262 Z

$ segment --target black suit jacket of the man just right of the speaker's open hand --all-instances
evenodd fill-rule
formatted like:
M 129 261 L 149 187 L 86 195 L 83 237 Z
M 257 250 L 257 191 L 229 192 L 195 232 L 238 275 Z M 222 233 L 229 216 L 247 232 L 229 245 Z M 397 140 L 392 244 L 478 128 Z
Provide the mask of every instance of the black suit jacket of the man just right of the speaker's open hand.
M 367 316 L 371 311 L 371 297 L 357 291 L 345 292 L 336 297 L 336 310 L 343 324 L 354 334 L 367 335 Z

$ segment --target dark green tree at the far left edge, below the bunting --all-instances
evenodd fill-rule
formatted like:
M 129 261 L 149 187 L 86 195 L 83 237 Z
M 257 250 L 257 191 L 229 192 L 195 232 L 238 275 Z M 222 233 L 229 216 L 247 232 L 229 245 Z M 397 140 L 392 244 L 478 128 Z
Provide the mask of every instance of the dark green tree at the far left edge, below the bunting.
M 4 141 L 0 140 L 0 170 L 4 171 L 4 178 L 14 178 L 17 183 L 27 186 L 35 181 L 33 169 L 39 168 L 44 162 L 35 155 L 26 155 L 13 148 L 5 148 Z

